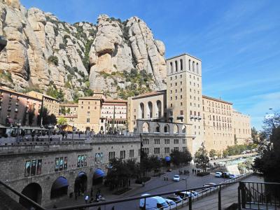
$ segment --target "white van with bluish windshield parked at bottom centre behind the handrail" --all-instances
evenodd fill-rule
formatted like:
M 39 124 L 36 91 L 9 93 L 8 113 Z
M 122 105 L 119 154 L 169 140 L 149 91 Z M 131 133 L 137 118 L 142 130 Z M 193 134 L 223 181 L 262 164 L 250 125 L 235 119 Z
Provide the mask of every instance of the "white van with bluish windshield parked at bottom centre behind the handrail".
M 143 194 L 141 196 L 146 196 L 150 194 Z M 145 199 L 140 199 L 139 207 L 140 209 L 144 209 Z M 165 200 L 160 196 L 155 197 L 147 197 L 146 198 L 146 210 L 156 210 L 156 209 L 167 209 L 169 206 Z

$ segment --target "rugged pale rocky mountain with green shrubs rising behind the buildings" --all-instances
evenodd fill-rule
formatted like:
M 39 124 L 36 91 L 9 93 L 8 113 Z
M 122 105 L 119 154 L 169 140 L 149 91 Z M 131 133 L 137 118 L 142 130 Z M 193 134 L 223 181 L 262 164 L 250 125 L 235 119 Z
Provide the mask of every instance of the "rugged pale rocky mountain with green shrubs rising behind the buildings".
M 126 98 L 165 88 L 165 45 L 146 23 L 99 15 L 69 24 L 18 0 L 0 1 L 0 85 L 66 100 L 105 92 Z

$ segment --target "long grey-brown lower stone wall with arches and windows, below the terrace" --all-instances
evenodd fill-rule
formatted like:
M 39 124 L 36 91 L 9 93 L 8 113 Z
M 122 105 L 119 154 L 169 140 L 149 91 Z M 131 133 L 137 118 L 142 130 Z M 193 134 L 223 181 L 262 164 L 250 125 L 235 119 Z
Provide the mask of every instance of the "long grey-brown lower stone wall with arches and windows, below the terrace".
M 90 141 L 78 142 L 52 142 L 52 143 L 20 143 L 17 145 L 0 146 L 0 164 L 5 173 L 0 174 L 0 180 L 8 186 L 22 192 L 29 184 L 37 183 L 41 189 L 38 203 L 44 207 L 60 199 L 50 199 L 52 184 L 59 178 L 64 177 L 69 186 L 66 195 L 74 191 L 75 180 L 80 172 L 87 176 L 87 189 L 94 184 L 94 172 L 102 169 L 106 174 L 109 164 L 109 153 L 114 153 L 115 158 L 120 158 L 121 152 L 125 151 L 124 159 L 135 158 L 139 162 L 139 150 L 141 141 L 139 135 L 133 137 L 124 136 L 95 136 Z M 134 152 L 130 152 L 133 150 Z M 100 155 L 102 153 L 102 156 Z M 123 153 L 122 153 L 123 154 Z M 78 155 L 87 155 L 86 166 L 78 167 Z M 55 169 L 56 158 L 67 159 L 67 167 Z M 100 158 L 103 157 L 103 158 Z M 27 174 L 25 165 L 34 160 L 34 176 Z M 38 160 L 41 161 L 41 172 L 38 173 Z M 85 162 L 85 161 L 84 161 Z M 94 187 L 96 190 L 96 187 Z M 40 192 L 34 192 L 39 193 Z M 65 196 L 66 196 L 65 195 Z M 11 195 L 14 197 L 15 195 Z M 18 200 L 18 198 L 15 198 Z

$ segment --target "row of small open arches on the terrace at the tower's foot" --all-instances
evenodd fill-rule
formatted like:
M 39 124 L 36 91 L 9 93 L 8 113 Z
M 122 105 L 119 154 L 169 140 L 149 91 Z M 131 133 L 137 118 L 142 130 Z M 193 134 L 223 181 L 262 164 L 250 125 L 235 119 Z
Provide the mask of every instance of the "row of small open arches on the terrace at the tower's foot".
M 145 133 L 151 133 L 151 132 L 156 132 L 156 133 L 160 133 L 160 132 L 165 132 L 165 133 L 170 133 L 170 126 L 168 124 L 165 124 L 164 127 L 163 127 L 163 130 L 161 129 L 162 125 L 160 125 L 159 123 L 157 123 L 155 125 L 155 129 L 153 130 L 151 128 L 151 126 L 148 124 L 148 123 L 143 123 L 142 124 L 142 132 L 145 132 Z M 182 127 L 182 133 L 186 133 L 186 125 L 183 125 Z M 179 127 L 178 125 L 173 125 L 173 133 L 174 134 L 179 134 Z

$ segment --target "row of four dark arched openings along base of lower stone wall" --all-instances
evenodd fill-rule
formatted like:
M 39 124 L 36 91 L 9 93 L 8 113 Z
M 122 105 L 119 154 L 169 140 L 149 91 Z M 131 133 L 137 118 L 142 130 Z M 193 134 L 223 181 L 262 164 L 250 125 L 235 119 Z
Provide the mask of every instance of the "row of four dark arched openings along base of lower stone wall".
M 92 186 L 97 186 L 103 183 L 104 172 L 102 169 L 96 169 L 92 176 Z M 80 193 L 85 193 L 87 190 L 87 174 L 85 172 L 79 172 L 73 183 L 73 190 L 75 195 L 80 195 Z M 69 181 L 64 176 L 59 176 L 52 183 L 50 188 L 50 200 L 68 195 L 69 191 Z M 22 194 L 29 197 L 34 202 L 41 204 L 42 202 L 42 188 L 38 183 L 29 183 L 22 190 Z M 20 204 L 27 209 L 30 209 L 32 205 L 25 199 L 20 197 Z

